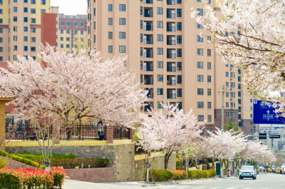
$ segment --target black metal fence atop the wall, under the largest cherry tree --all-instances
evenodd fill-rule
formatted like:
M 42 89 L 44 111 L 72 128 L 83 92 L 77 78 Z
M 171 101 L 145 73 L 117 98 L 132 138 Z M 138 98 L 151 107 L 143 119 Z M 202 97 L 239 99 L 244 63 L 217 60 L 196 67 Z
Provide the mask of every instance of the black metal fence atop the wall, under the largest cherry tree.
M 6 140 L 22 140 L 22 141 L 36 141 L 39 139 L 46 140 L 48 138 L 58 138 L 59 140 L 107 140 L 107 127 L 95 125 L 81 125 L 81 126 L 61 126 L 56 129 L 53 126 L 45 128 L 44 126 L 20 125 L 15 131 L 11 133 L 9 126 L 6 125 Z M 119 126 L 113 127 L 113 139 L 130 139 L 130 129 Z

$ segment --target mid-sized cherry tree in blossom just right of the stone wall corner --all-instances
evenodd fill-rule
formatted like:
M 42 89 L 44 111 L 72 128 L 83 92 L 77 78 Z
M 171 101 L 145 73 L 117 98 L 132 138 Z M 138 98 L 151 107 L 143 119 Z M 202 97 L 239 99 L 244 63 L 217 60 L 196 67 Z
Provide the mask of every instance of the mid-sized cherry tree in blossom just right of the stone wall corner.
M 163 146 L 159 148 L 165 151 L 165 169 L 167 169 L 168 160 L 172 153 L 198 138 L 199 133 L 201 133 L 200 128 L 203 125 L 202 122 L 197 121 L 192 110 L 184 113 L 177 107 L 178 104 L 173 106 L 167 103 L 167 105 L 163 105 L 162 111 L 154 111 L 151 108 L 148 113 L 140 113 L 142 127 L 138 130 L 147 129 L 146 131 L 150 135 L 157 136 L 156 140 L 163 143 Z M 149 137 L 140 137 L 142 137 L 140 143 L 152 143 L 153 141 Z

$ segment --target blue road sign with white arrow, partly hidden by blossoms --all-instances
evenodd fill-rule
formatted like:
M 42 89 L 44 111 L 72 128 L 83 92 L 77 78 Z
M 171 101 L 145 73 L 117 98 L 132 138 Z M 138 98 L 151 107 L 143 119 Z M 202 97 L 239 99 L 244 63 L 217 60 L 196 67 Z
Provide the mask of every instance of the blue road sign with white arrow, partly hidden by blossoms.
M 254 124 L 284 124 L 285 118 L 277 116 L 275 110 L 269 102 L 254 100 Z

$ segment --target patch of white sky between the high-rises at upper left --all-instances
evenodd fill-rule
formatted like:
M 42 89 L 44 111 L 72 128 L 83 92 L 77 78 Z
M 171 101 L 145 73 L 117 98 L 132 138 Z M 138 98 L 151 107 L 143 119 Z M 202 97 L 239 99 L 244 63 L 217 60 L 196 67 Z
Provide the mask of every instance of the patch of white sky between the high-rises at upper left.
M 59 6 L 59 13 L 66 15 L 86 14 L 86 0 L 51 0 L 51 6 Z

